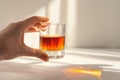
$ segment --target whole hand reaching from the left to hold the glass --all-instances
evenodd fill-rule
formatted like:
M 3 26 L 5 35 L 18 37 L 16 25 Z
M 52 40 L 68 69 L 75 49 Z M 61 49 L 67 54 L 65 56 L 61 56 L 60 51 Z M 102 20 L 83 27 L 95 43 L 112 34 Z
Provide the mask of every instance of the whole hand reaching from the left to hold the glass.
M 0 60 L 8 60 L 19 56 L 32 56 L 48 61 L 48 55 L 39 49 L 33 49 L 24 44 L 24 32 L 44 29 L 48 18 L 33 16 L 23 21 L 11 23 L 0 32 Z M 40 24 L 44 23 L 44 24 Z

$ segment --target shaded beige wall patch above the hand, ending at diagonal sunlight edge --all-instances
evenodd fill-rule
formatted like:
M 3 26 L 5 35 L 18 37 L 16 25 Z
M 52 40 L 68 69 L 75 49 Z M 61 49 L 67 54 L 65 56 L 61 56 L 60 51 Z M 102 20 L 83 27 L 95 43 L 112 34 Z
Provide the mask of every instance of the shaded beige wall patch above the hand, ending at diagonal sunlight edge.
M 1 0 L 0 29 L 11 22 L 33 15 L 50 2 L 51 0 Z

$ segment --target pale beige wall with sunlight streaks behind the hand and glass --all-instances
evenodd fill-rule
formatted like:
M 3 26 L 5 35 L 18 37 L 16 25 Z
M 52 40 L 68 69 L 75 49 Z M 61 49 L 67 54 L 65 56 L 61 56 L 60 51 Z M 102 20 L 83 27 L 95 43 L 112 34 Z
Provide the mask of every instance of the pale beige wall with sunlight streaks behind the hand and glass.
M 32 15 L 65 21 L 67 47 L 120 47 L 120 0 L 0 0 L 0 29 Z

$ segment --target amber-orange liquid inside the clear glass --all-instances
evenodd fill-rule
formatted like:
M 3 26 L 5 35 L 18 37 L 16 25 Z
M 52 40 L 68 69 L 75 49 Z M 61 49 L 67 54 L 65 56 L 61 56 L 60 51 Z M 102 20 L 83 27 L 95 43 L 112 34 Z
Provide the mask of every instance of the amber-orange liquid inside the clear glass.
M 65 36 L 41 36 L 40 48 L 47 51 L 63 50 L 65 44 Z

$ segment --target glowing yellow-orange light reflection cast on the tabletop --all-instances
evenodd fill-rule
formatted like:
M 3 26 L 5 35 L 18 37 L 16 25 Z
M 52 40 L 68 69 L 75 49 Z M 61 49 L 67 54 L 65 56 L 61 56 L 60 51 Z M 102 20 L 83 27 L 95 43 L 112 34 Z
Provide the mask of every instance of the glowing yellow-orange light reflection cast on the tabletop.
M 88 69 L 88 68 L 83 68 L 83 67 L 72 67 L 72 68 L 66 68 L 64 70 L 64 73 L 68 77 L 74 77 L 74 76 L 81 76 L 81 77 L 86 77 L 87 75 L 90 76 L 95 76 L 99 80 L 102 80 L 101 75 L 102 75 L 102 69 Z

